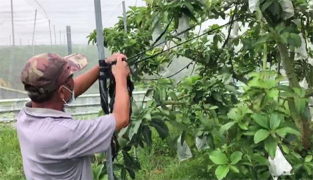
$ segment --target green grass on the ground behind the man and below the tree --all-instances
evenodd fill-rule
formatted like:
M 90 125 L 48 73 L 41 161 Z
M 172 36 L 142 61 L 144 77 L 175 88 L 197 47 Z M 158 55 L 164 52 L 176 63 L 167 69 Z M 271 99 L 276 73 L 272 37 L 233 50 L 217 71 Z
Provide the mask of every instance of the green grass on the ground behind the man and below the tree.
M 153 146 L 138 148 L 141 170 L 136 179 L 212 179 L 206 171 L 208 155 L 193 151 L 193 157 L 179 163 L 176 150 L 170 150 L 156 132 L 152 133 Z M 117 172 L 119 173 L 119 172 Z M 0 124 L 0 180 L 25 179 L 22 157 L 15 129 L 6 123 Z

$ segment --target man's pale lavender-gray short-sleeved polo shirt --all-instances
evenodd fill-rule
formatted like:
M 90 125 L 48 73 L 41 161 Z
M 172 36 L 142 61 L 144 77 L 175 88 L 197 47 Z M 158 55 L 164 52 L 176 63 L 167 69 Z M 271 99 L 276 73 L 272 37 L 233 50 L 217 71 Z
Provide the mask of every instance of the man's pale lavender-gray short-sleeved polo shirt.
M 93 179 L 90 155 L 110 147 L 113 114 L 74 120 L 69 113 L 24 105 L 16 124 L 26 179 Z

